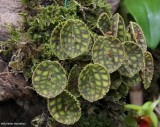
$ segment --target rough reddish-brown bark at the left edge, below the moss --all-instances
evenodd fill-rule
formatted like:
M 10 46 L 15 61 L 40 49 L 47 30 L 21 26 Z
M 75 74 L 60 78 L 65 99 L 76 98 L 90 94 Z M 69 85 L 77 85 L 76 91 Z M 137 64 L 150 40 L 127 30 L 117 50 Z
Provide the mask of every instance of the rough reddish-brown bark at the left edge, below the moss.
M 7 71 L 7 63 L 0 60 L 0 101 L 8 99 L 29 99 L 32 91 L 21 74 Z

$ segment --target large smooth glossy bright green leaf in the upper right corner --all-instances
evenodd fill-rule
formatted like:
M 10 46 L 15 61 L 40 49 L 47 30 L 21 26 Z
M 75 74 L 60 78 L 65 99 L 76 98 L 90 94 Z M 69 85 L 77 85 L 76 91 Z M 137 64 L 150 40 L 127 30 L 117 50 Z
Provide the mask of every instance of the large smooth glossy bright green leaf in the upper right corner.
M 121 5 L 125 20 L 132 15 L 142 27 L 148 47 L 155 49 L 160 42 L 160 0 L 123 0 Z

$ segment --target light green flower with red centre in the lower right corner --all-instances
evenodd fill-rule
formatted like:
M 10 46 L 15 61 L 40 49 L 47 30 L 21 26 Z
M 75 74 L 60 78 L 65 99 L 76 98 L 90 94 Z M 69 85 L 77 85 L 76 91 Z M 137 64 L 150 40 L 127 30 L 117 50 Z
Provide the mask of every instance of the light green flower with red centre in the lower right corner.
M 158 127 L 158 118 L 156 114 L 154 113 L 154 109 L 156 108 L 158 103 L 160 103 L 160 100 L 156 100 L 154 102 L 148 101 L 144 103 L 142 106 L 138 106 L 134 104 L 127 104 L 124 107 L 126 109 L 132 109 L 136 111 L 137 116 L 138 116 L 137 122 L 140 127 L 142 126 L 141 125 L 142 122 L 139 122 L 139 120 L 143 120 L 146 122 L 145 127 Z

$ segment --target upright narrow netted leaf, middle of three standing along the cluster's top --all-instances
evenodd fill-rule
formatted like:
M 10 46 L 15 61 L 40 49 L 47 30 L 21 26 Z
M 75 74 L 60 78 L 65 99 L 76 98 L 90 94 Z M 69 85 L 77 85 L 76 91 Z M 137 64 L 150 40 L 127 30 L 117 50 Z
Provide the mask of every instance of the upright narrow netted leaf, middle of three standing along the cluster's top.
M 122 16 L 116 13 L 111 18 L 111 31 L 112 35 L 118 37 L 120 41 L 124 41 L 125 39 L 125 24 Z

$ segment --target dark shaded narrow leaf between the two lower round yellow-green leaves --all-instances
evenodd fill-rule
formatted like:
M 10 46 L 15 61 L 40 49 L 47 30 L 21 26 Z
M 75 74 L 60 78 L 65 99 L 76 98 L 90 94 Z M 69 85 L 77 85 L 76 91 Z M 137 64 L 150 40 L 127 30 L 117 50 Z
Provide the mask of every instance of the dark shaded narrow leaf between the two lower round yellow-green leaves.
M 80 96 L 80 93 L 78 91 L 78 77 L 81 70 L 82 70 L 82 67 L 78 65 L 74 65 L 70 70 L 69 76 L 68 76 L 67 90 L 76 97 Z

